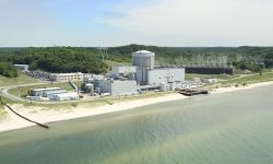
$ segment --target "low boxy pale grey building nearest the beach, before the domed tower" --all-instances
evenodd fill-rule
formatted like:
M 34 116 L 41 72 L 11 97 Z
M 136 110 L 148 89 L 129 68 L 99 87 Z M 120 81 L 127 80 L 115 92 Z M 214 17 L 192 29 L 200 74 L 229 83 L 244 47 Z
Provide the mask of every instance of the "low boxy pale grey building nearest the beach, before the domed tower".
M 110 95 L 138 94 L 139 86 L 136 81 L 103 80 L 99 81 L 102 93 Z

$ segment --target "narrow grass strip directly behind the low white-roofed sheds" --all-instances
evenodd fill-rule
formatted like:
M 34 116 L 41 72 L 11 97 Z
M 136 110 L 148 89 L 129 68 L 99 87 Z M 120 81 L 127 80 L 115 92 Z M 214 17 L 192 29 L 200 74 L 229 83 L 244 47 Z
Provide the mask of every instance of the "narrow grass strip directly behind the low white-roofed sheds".
M 67 90 L 67 91 L 72 91 L 73 90 L 73 87 L 71 87 L 71 85 L 68 82 L 66 82 L 66 83 L 52 83 L 52 84 L 41 84 L 41 85 L 31 85 L 31 86 L 14 87 L 14 89 L 9 90 L 9 93 L 11 93 L 13 95 L 16 95 L 16 96 L 25 97 L 29 90 L 45 89 L 45 87 L 61 87 L 61 89 Z

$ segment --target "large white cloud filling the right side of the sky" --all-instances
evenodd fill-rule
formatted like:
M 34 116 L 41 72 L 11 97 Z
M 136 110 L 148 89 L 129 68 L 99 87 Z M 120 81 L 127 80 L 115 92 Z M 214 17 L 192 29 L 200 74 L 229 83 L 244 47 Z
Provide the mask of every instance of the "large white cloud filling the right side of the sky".
M 273 1 L 270 0 L 151 0 L 116 8 L 121 16 L 100 22 L 138 36 L 170 45 L 272 45 Z M 168 45 L 168 44 L 167 44 Z

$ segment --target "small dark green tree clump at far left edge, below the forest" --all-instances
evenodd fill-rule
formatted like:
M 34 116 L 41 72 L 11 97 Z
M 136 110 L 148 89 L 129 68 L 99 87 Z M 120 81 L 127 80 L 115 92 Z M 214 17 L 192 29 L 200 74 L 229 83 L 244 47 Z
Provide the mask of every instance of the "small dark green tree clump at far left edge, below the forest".
M 17 78 L 17 69 L 10 62 L 0 62 L 0 74 L 7 78 Z

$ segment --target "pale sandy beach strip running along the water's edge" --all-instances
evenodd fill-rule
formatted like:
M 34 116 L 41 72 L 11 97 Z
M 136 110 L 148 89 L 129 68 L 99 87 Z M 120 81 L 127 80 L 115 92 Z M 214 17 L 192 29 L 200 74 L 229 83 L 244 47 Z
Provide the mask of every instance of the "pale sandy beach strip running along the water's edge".
M 273 82 L 261 82 L 261 83 L 254 83 L 247 86 L 230 86 L 230 87 L 219 87 L 215 91 L 212 91 L 211 94 L 219 94 L 219 93 L 227 93 L 227 92 L 236 92 L 236 91 L 242 91 L 242 90 L 250 90 L 259 86 L 266 86 L 271 85 Z M 31 118 L 35 121 L 41 122 L 41 124 L 48 124 L 48 122 L 56 122 L 56 121 L 63 121 L 63 120 L 71 120 L 71 119 L 78 119 L 78 118 L 84 118 L 84 117 L 92 117 L 92 116 L 98 116 L 104 114 L 110 114 L 116 112 L 123 112 L 133 109 L 136 107 L 147 106 L 152 104 L 157 103 L 165 103 L 165 102 L 171 102 L 171 101 L 180 101 L 189 98 L 188 96 L 183 96 L 181 94 L 168 94 L 159 97 L 150 97 L 150 98 L 140 98 L 129 102 L 119 102 L 115 103 L 112 105 L 103 105 L 97 107 L 88 107 L 88 105 L 79 105 L 76 107 L 70 107 L 70 108 L 62 108 L 60 110 L 56 109 L 49 109 L 47 107 L 25 107 L 21 104 L 11 105 L 13 108 L 16 109 L 16 112 L 27 118 Z M 0 132 L 4 131 L 12 131 L 23 128 L 28 128 L 36 126 L 32 122 L 28 122 L 19 116 L 14 115 L 12 112 L 5 109 L 9 114 L 9 117 L 0 121 Z

